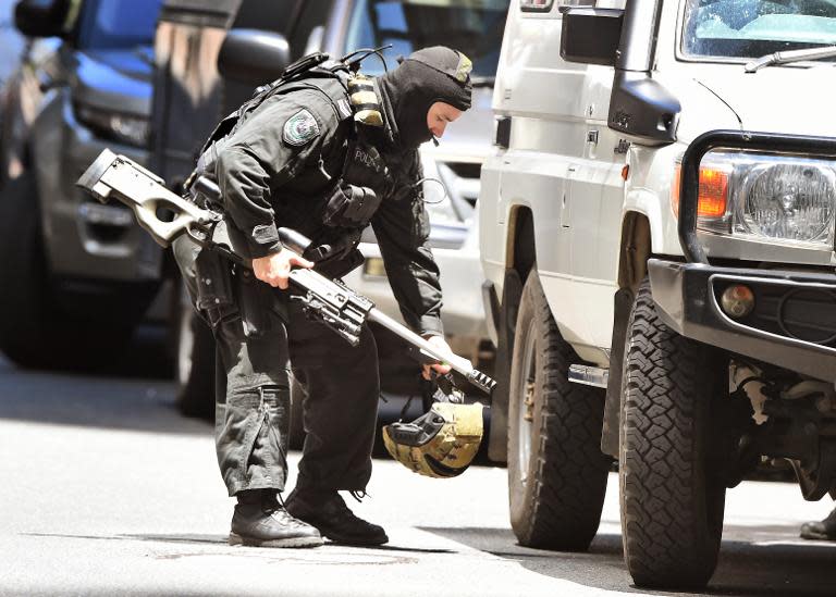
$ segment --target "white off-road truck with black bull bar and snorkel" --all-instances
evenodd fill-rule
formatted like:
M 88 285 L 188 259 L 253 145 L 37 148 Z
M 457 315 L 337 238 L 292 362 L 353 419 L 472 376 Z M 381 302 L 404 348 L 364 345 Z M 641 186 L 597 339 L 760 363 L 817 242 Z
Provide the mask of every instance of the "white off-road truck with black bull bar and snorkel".
M 834 494 L 834 60 L 833 0 L 512 2 L 479 200 L 521 544 L 586 549 L 617 459 L 636 584 L 699 587 L 762 459 Z

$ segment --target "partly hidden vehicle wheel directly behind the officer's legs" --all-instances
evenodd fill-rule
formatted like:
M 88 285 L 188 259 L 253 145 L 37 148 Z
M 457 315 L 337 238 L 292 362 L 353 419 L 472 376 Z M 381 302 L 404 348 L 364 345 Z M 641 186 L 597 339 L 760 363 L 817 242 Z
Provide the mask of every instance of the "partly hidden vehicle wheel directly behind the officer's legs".
M 214 419 L 214 338 L 195 313 L 185 285 L 179 283 L 174 304 L 175 396 L 177 410 L 186 416 Z

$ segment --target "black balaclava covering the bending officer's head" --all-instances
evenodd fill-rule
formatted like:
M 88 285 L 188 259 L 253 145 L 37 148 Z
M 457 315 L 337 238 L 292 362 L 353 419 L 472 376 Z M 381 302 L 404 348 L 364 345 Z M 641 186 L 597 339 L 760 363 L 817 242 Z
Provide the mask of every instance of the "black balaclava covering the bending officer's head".
M 427 112 L 437 101 L 470 108 L 470 60 L 456 50 L 434 46 L 409 54 L 378 79 L 393 133 L 401 149 L 416 149 L 432 138 Z

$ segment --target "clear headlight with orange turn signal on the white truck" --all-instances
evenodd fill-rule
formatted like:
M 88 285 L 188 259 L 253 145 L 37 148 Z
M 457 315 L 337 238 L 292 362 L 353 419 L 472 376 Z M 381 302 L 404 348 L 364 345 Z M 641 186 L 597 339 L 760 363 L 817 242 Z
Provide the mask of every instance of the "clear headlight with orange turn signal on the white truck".
M 672 204 L 679 207 L 679 165 Z M 700 164 L 698 228 L 832 251 L 836 162 L 802 156 L 712 151 Z

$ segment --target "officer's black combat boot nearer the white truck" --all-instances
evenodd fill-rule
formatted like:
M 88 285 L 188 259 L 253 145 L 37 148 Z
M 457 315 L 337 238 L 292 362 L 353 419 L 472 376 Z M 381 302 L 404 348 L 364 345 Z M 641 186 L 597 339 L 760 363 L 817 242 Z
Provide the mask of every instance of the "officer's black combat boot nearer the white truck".
M 294 489 L 285 502 L 295 518 L 316 526 L 323 537 L 342 545 L 382 545 L 389 542 L 382 526 L 354 515 L 335 490 Z

